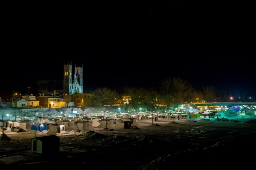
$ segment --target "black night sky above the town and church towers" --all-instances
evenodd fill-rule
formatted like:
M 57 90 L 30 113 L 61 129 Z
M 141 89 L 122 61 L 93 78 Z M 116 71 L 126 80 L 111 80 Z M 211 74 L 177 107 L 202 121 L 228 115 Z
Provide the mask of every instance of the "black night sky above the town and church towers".
M 197 89 L 255 92 L 252 5 L 110 6 L 9 13 L 0 97 L 26 92 L 36 80 L 62 79 L 64 61 L 83 64 L 85 91 L 158 88 L 161 79 L 180 77 Z

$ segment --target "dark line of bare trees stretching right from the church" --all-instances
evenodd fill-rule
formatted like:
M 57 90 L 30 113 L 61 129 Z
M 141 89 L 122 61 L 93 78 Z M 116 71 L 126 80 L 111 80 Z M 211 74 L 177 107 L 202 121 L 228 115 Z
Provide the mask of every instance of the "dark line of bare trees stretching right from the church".
M 251 101 L 251 94 L 235 95 L 228 90 L 218 92 L 214 86 L 202 86 L 201 90 L 193 88 L 187 80 L 179 77 L 167 78 L 161 81 L 159 88 L 125 87 L 119 94 L 109 88 L 97 88 L 92 91 L 94 98 L 85 101 L 85 107 L 100 107 L 103 105 L 116 105 L 122 101 L 122 96 L 130 96 L 132 100 L 126 104 L 126 109 L 137 109 L 138 105 L 144 105 L 147 110 L 157 107 L 171 107 L 179 103 L 190 102 L 237 102 Z

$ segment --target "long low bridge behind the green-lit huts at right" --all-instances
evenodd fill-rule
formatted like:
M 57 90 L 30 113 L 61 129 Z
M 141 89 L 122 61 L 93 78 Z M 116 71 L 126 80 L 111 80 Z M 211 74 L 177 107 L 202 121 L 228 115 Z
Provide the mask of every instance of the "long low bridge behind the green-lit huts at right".
M 194 105 L 197 106 L 256 106 L 256 102 L 192 102 L 185 103 L 184 105 Z

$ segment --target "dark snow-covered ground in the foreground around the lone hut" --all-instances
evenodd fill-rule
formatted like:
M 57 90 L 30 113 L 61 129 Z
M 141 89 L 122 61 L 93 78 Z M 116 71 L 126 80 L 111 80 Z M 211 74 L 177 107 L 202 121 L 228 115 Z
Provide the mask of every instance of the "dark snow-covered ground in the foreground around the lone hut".
M 86 166 L 89 169 L 143 169 L 143 167 L 150 169 L 148 166 L 152 166 L 151 169 L 156 169 L 157 166 L 167 169 L 169 164 L 166 165 L 163 159 L 168 160 L 167 162 L 175 161 L 177 163 L 175 165 L 181 165 L 184 160 L 193 166 L 198 165 L 199 162 L 204 165 L 202 160 L 206 157 L 215 160 L 217 153 L 220 160 L 224 159 L 222 155 L 227 156 L 226 161 L 230 161 L 234 156 L 236 160 L 239 157 L 237 153 L 241 152 L 243 158 L 239 159 L 243 161 L 247 158 L 243 149 L 234 147 L 239 143 L 247 148 L 247 145 L 255 143 L 254 138 L 251 138 L 256 130 L 254 121 L 184 119 L 175 120 L 175 122 L 159 121 L 152 125 L 152 121 L 138 121 L 137 129 L 113 131 L 95 128 L 95 135 L 90 136 L 87 136 L 85 131 L 63 132 L 57 134 L 60 137 L 60 151 L 51 155 L 31 153 L 31 139 L 35 131 L 14 133 L 8 129 L 5 134 L 11 140 L 0 141 L 0 163 L 8 166 L 42 165 L 47 166 L 47 169 L 62 169 L 63 165 Z M 45 135 L 49 135 L 47 131 L 36 133 L 37 137 Z M 233 153 L 232 148 L 237 153 Z M 252 148 L 252 151 L 254 150 Z M 227 151 L 230 154 L 227 154 Z M 247 161 L 249 162 L 250 158 L 247 158 Z M 56 163 L 60 162 L 62 163 L 56 168 Z M 249 165 L 248 162 L 247 165 Z

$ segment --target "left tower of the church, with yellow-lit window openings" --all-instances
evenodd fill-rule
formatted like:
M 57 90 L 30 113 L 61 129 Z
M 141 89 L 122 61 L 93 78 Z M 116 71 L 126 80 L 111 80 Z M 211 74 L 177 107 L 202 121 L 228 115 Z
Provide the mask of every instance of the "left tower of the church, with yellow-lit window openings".
M 63 71 L 63 93 L 64 93 L 64 98 L 69 101 L 71 99 L 71 94 L 72 94 L 72 63 L 71 65 L 69 62 L 65 64 L 64 62 L 64 71 Z

